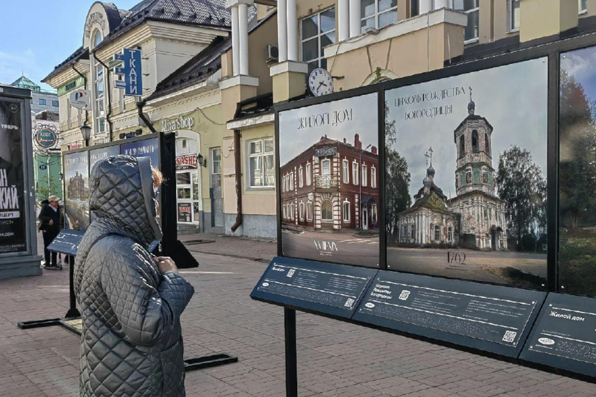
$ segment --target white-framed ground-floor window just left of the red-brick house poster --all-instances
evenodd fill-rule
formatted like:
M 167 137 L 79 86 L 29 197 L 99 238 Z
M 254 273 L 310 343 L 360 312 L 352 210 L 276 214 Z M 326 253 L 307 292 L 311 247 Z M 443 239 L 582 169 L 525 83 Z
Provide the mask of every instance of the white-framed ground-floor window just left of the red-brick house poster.
M 273 187 L 275 162 L 273 139 L 257 139 L 249 142 L 249 186 Z

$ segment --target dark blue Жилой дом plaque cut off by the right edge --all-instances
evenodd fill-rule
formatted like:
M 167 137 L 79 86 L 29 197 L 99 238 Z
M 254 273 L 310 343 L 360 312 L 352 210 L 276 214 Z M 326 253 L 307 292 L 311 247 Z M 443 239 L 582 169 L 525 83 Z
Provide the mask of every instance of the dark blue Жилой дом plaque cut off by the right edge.
M 596 377 L 596 299 L 549 293 L 520 358 Z

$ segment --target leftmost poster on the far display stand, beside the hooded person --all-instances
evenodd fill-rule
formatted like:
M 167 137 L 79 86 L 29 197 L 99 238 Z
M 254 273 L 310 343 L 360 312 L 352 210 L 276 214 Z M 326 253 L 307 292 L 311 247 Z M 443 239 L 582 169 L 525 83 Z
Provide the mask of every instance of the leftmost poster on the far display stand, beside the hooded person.
M 89 219 L 88 152 L 64 155 L 64 213 L 69 229 L 86 230 Z

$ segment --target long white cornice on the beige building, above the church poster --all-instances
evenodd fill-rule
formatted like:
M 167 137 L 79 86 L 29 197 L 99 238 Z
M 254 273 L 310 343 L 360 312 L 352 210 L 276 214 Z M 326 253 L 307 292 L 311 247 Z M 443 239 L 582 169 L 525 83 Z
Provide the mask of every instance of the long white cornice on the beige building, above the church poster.
M 417 15 L 416 17 L 402 20 L 386 26 L 383 29 L 379 29 L 378 33 L 375 35 L 364 33 L 360 36 L 328 45 L 324 48 L 325 58 L 335 57 L 336 55 L 344 54 L 345 52 L 364 48 L 373 45 L 374 43 L 393 39 L 394 37 L 407 35 L 408 33 L 417 30 L 427 29 L 430 26 L 441 23 L 467 26 L 468 15 L 464 12 L 454 11 L 449 8 L 440 8 L 439 10 L 430 11 L 427 12 L 427 14 Z

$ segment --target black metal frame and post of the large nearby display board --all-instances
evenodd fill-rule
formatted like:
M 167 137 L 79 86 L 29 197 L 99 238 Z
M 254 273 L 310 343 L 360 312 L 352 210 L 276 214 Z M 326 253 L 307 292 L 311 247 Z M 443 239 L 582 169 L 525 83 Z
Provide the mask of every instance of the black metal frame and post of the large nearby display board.
M 276 166 L 276 196 L 277 196 L 277 249 L 278 256 L 283 257 L 282 249 L 282 203 L 281 203 L 281 170 L 280 170 L 280 112 L 294 110 L 298 108 L 308 107 L 310 105 L 324 104 L 326 102 L 338 101 L 340 99 L 352 98 L 355 96 L 365 95 L 368 93 L 378 94 L 378 145 L 379 145 L 379 198 L 381 203 L 381 210 L 379 214 L 379 228 L 380 228 L 380 242 L 379 242 L 379 269 L 387 269 L 387 241 L 385 228 L 385 137 L 384 137 L 384 97 L 386 90 L 395 89 L 398 87 L 415 85 L 418 83 L 430 82 L 432 80 L 442 79 L 445 77 L 458 76 L 465 73 L 482 71 L 489 68 L 495 68 L 516 62 L 529 61 L 537 58 L 546 58 L 548 64 L 547 72 L 547 285 L 545 292 L 558 293 L 562 292 L 562 287 L 558 282 L 558 205 L 559 205 L 559 191 L 558 191 L 558 156 L 559 156 L 559 73 L 560 73 L 560 56 L 562 52 L 573 51 L 589 46 L 596 45 L 596 33 L 589 33 L 586 35 L 571 37 L 567 39 L 560 39 L 555 37 L 553 39 L 547 38 L 542 40 L 535 40 L 527 44 L 526 47 L 511 51 L 506 54 L 493 55 L 481 60 L 473 60 L 467 62 L 459 62 L 456 65 L 446 66 L 439 70 L 433 70 L 426 73 L 417 74 L 414 76 L 403 77 L 401 79 L 391 80 L 389 82 L 377 83 L 375 85 L 358 87 L 351 90 L 346 90 L 339 93 L 332 93 L 330 95 L 307 98 L 295 102 L 284 102 L 275 105 L 275 166 Z M 513 95 L 513 93 L 512 93 Z M 523 94 L 522 94 L 523 95 Z M 405 273 L 405 272 L 404 272 Z M 449 277 L 436 277 L 437 280 L 442 278 L 449 279 Z M 493 285 L 488 282 L 479 282 L 486 285 Z M 324 314 L 318 311 L 308 310 L 300 305 L 287 305 L 278 302 L 267 301 L 259 298 L 257 300 L 266 301 L 271 304 L 277 304 L 284 307 L 284 330 L 285 330 L 285 370 L 286 370 L 286 395 L 288 397 L 297 396 L 297 355 L 296 355 L 296 310 L 310 312 L 312 314 L 321 315 L 323 317 L 330 317 L 340 321 L 347 321 L 361 326 L 370 327 L 373 329 L 383 330 L 385 332 L 396 333 L 399 335 L 406 335 L 416 339 L 426 340 L 428 342 L 439 345 L 449 346 L 451 348 L 460 349 L 464 351 L 473 351 L 476 354 L 486 355 L 488 357 L 496 358 L 498 360 L 513 361 L 529 367 L 536 367 L 541 370 L 551 371 L 554 373 L 564 374 L 566 376 L 575 377 L 582 380 L 594 382 L 594 377 L 585 376 L 576 372 L 568 371 L 564 368 L 554 368 L 548 365 L 536 364 L 536 362 L 529 362 L 520 358 L 512 359 L 503 357 L 498 354 L 489 353 L 486 351 L 479 351 L 477 349 L 468 348 L 467 346 L 449 343 L 445 340 L 436 340 L 420 335 L 408 334 L 403 332 L 396 332 L 393 329 L 386 329 L 384 327 L 375 326 L 373 324 L 361 323 L 353 320 L 346 320 L 333 315 Z M 532 324 L 533 325 L 533 324 Z M 532 330 L 530 330 L 530 333 Z M 525 348 L 526 346 L 524 346 Z

